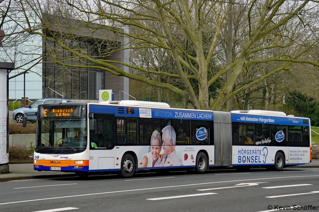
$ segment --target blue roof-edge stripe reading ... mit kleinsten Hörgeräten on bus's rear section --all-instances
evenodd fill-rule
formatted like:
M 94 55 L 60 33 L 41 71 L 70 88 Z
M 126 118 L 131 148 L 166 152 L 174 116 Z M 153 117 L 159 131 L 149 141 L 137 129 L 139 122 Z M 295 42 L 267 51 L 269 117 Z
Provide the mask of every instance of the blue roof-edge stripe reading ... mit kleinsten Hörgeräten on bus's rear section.
M 250 114 L 232 114 L 233 122 L 246 122 L 246 123 L 260 123 L 260 124 L 280 124 L 280 125 L 293 125 L 293 126 L 309 126 L 303 124 L 302 119 L 293 117 L 276 117 L 276 116 L 261 116 Z

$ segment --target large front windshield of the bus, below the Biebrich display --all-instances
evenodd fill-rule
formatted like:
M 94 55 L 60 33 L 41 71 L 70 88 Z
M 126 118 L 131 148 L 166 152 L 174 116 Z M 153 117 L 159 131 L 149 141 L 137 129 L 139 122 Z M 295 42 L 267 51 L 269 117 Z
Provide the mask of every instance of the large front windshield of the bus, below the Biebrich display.
M 35 151 L 45 154 L 73 154 L 87 146 L 86 118 L 39 119 Z

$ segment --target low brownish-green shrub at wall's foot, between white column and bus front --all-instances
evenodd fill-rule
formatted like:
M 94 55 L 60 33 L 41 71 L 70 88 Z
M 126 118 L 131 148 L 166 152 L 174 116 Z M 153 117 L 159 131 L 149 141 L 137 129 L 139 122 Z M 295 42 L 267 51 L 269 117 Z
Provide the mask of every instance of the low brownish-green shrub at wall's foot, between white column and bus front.
M 9 147 L 9 161 L 30 161 L 34 147 Z M 31 156 L 31 157 L 30 157 Z

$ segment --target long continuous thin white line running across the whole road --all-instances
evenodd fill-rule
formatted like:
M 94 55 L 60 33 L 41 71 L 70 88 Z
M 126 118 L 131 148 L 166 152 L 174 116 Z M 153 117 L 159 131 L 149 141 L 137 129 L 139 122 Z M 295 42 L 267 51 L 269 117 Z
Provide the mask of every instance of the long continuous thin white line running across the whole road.
M 197 185 L 206 185 L 206 184 L 214 184 L 214 183 L 224 183 L 224 182 L 240 182 L 240 181 L 269 180 L 269 179 L 297 178 L 297 177 L 319 177 L 319 175 L 289 176 L 289 177 L 268 177 L 268 178 L 247 179 L 247 180 L 231 180 L 231 181 L 219 181 L 219 182 L 205 182 L 205 183 L 195 183 L 195 184 L 187 184 L 187 185 L 178 185 L 178 186 L 164 186 L 164 187 L 157 187 L 157 188 L 140 188 L 140 189 L 122 190 L 122 191 L 110 191 L 110 192 L 93 193 L 93 194 L 81 194 L 81 195 L 72 195 L 72 196 L 58 196 L 58 197 L 51 197 L 51 198 L 44 198 L 44 199 L 17 201 L 17 202 L 4 202 L 4 203 L 0 203 L 0 205 L 13 204 L 13 203 L 19 203 L 19 202 L 32 202 L 32 201 L 40 201 L 40 200 L 53 200 L 53 199 L 69 198 L 69 197 L 78 197 L 78 196 L 89 196 L 89 195 L 121 193 L 121 192 L 129 192 L 129 191 L 143 191 L 143 190 L 159 189 L 159 188 L 176 188 L 176 187 L 197 186 Z

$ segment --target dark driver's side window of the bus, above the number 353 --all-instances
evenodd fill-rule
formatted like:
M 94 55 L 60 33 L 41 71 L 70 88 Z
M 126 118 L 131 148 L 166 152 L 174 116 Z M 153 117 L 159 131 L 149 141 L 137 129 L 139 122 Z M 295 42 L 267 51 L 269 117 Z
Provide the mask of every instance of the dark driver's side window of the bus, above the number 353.
M 95 130 L 91 130 L 90 149 L 113 149 L 115 146 L 114 115 L 94 114 Z

